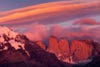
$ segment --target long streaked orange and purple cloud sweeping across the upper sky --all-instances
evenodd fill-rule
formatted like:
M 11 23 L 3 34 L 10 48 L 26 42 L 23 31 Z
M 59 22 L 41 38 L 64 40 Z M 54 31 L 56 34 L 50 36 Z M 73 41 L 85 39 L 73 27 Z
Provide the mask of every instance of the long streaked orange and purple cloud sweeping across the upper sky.
M 2 12 L 0 24 L 51 24 L 100 14 L 100 2 L 52 2 Z

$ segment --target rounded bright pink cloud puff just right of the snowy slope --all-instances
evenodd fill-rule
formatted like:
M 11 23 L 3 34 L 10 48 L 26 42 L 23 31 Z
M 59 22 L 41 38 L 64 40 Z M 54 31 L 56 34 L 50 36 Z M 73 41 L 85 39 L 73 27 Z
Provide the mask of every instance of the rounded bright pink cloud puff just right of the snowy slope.
M 27 32 L 25 32 L 25 35 L 33 41 L 43 40 L 48 35 L 48 29 L 45 25 L 34 24 Z

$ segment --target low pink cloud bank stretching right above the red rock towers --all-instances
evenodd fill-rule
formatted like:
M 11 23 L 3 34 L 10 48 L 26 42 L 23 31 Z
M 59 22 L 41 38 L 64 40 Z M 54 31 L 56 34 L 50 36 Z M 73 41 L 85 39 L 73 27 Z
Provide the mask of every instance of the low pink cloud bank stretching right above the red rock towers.
M 64 37 L 67 39 L 93 39 L 100 42 L 100 25 L 74 25 L 70 27 L 63 27 L 60 25 L 48 26 L 43 24 L 35 24 L 30 27 L 25 35 L 33 41 L 47 40 L 50 36 L 58 38 Z

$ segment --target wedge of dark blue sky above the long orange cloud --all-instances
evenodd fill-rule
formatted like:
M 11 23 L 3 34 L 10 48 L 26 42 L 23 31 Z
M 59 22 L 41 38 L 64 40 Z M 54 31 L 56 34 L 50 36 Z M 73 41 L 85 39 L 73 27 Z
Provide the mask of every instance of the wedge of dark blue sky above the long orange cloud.
M 25 7 L 34 4 L 52 2 L 56 0 L 0 0 L 0 11 Z

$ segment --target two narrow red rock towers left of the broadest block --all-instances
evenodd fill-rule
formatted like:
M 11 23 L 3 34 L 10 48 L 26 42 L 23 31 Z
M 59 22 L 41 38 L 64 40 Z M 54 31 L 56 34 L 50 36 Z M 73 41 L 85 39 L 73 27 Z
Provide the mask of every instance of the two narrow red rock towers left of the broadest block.
M 54 53 L 59 60 L 64 60 L 70 55 L 68 40 L 61 38 L 59 41 L 56 37 L 51 36 L 49 38 L 49 45 L 47 50 Z

